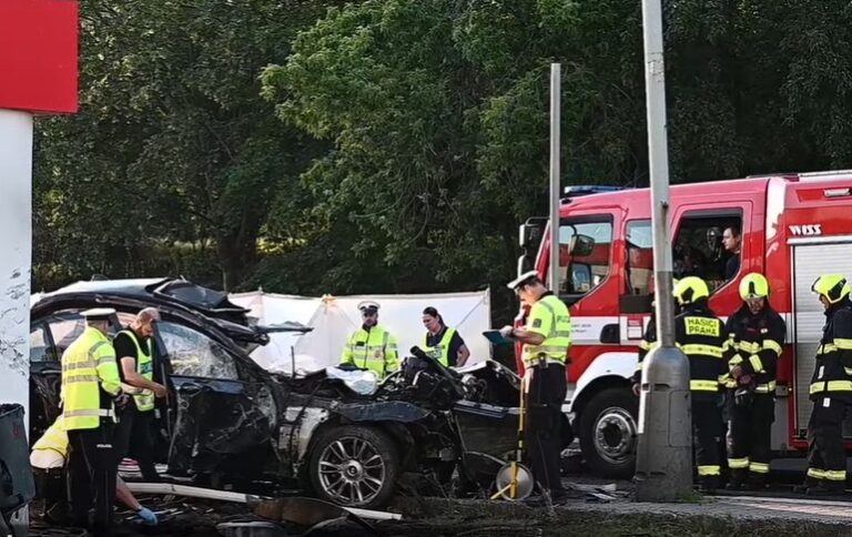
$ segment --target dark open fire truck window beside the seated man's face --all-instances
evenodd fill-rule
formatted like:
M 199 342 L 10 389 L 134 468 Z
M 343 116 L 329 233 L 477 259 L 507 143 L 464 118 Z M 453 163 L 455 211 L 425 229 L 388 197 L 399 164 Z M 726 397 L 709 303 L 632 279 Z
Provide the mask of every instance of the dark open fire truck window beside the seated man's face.
M 680 222 L 672 246 L 674 277 L 699 276 L 712 293 L 726 282 L 726 265 L 732 255 L 722 246 L 722 233 L 728 227 L 741 229 L 742 216 L 687 214 Z

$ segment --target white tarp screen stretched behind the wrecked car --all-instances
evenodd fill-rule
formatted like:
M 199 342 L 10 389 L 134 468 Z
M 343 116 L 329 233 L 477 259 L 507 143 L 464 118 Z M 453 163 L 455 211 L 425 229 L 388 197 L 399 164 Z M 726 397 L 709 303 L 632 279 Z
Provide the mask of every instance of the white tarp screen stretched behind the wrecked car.
M 396 336 L 399 356 L 407 356 L 414 345 L 422 345 L 426 328 L 423 310 L 435 307 L 444 322 L 458 330 L 470 349 L 468 364 L 490 357 L 490 346 L 483 332 L 491 326 L 489 290 L 471 293 L 424 295 L 371 295 L 306 297 L 277 295 L 261 291 L 232 294 L 229 298 L 252 311 L 261 324 L 295 321 L 314 328 L 305 335 L 276 333 L 271 343 L 252 354 L 263 367 L 282 373 L 316 371 L 335 365 L 346 338 L 361 325 L 359 302 L 381 305 L 378 323 Z M 292 348 L 292 351 L 291 351 Z

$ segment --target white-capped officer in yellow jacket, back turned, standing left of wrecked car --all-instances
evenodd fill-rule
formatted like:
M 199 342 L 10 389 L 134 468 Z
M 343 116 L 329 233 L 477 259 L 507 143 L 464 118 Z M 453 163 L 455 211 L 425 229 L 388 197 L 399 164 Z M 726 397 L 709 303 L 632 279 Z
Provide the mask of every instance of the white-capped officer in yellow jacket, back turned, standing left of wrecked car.
M 69 489 L 74 523 L 89 527 L 94 500 L 94 533 L 109 535 L 115 500 L 114 406 L 126 402 L 121 392 L 115 351 L 106 336 L 115 310 L 81 313 L 87 327 L 62 354 L 60 392 L 62 421 L 71 453 Z M 93 494 L 92 494 L 93 493 Z

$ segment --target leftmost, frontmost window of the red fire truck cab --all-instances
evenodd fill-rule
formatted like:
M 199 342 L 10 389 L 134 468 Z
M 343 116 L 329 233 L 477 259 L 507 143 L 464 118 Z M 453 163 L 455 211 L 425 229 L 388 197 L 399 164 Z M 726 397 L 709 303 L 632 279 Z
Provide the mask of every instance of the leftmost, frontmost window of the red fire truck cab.
M 611 222 L 562 222 L 559 226 L 559 294 L 584 295 L 606 280 Z

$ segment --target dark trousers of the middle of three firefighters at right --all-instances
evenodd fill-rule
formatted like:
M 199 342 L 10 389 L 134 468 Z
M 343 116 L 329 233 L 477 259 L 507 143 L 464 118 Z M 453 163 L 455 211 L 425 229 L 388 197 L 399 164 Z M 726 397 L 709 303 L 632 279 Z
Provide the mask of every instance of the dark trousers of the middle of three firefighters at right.
M 752 477 L 765 477 L 769 474 L 775 399 L 769 394 L 753 394 L 749 404 L 738 405 L 732 393 L 730 399 L 728 466 L 731 475 L 742 478 L 751 473 Z

